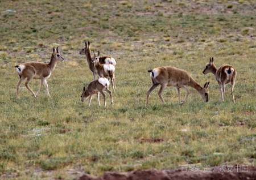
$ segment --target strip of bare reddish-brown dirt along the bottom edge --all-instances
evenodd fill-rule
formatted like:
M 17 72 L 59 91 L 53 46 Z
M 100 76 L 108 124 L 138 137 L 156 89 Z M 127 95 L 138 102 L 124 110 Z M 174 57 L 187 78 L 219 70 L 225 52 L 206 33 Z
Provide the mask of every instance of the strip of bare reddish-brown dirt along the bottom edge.
M 242 168 L 244 165 L 234 165 Z M 256 167 L 248 166 L 248 172 L 221 172 L 220 169 L 212 169 L 208 172 L 182 172 L 181 169 L 176 170 L 134 170 L 127 173 L 115 173 L 106 172 L 102 177 L 91 177 L 88 174 L 83 175 L 79 180 L 143 180 L 143 179 L 161 179 L 161 180 L 192 180 L 192 179 L 204 179 L 204 180 L 238 180 L 238 179 L 256 179 Z

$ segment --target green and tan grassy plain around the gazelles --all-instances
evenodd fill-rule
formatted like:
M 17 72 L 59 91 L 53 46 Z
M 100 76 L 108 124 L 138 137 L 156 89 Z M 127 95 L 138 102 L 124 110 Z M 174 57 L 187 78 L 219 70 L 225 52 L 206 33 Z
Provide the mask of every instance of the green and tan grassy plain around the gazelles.
M 0 2 L 0 178 L 73 179 L 81 173 L 176 169 L 180 165 L 256 163 L 255 8 L 251 1 L 1 1 Z M 15 10 L 16 12 L 3 12 Z M 114 106 L 96 97 L 81 102 L 93 80 L 79 50 L 117 61 Z M 49 61 L 53 46 L 67 59 L 57 63 L 34 98 L 24 88 L 16 98 L 15 65 Z M 203 75 L 209 57 L 217 67 L 237 69 L 221 102 L 213 75 Z M 209 102 L 195 91 L 177 104 L 174 87 L 151 86 L 147 70 L 182 68 L 201 85 L 210 81 Z M 30 87 L 36 92 L 39 81 Z M 112 89 L 112 88 L 110 88 Z M 181 97 L 185 92 L 181 90 Z M 103 104 L 101 97 L 101 104 Z M 188 125 L 189 124 L 189 125 Z M 187 132 L 179 131 L 187 129 Z M 161 143 L 139 143 L 162 138 Z

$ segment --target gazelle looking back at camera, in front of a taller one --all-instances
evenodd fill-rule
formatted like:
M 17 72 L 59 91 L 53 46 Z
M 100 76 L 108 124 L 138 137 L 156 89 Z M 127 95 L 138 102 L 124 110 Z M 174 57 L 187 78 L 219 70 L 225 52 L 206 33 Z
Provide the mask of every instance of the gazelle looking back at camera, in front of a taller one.
M 93 52 L 93 61 L 92 61 L 92 63 L 94 63 L 94 67 L 97 70 L 97 74 L 101 78 L 110 79 L 112 87 L 113 87 L 113 91 L 115 91 L 115 67 L 112 64 L 101 65 L 100 62 L 99 62 L 99 58 L 100 58 L 100 52 L 98 52 L 98 55 L 96 55 Z

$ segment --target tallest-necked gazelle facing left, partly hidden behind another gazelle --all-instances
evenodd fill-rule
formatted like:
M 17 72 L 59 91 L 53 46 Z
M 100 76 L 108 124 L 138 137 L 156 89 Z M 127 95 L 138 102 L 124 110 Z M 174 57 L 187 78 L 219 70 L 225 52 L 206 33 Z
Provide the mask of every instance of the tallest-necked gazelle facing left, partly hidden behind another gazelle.
M 93 73 L 93 78 L 95 80 L 96 79 L 97 70 L 94 67 L 93 63 L 92 63 L 92 55 L 90 54 L 90 41 L 88 41 L 88 45 L 85 42 L 85 46 L 84 46 L 84 48 L 82 48 L 82 50 L 80 51 L 79 54 L 86 56 L 87 63 L 89 65 L 90 71 L 92 71 L 92 73 Z M 115 59 L 110 57 L 110 56 L 102 56 L 102 57 L 100 57 L 100 63 L 101 64 L 110 63 L 110 64 L 113 64 L 113 66 L 115 66 L 115 64 L 116 64 Z

